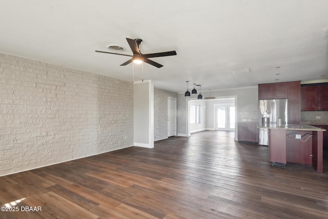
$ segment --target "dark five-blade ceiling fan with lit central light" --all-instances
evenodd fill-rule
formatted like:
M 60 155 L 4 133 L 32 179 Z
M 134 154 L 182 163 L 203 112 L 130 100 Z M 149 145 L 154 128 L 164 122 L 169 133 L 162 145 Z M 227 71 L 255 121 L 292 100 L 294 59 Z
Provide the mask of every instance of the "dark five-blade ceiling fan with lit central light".
M 132 62 L 139 61 L 139 63 L 145 62 L 145 63 L 148 63 L 152 66 L 157 67 L 157 68 L 160 68 L 160 67 L 163 67 L 163 66 L 159 63 L 156 63 L 156 62 L 148 59 L 148 58 L 176 55 L 175 51 L 142 54 L 139 50 L 139 45 L 142 43 L 142 39 L 127 38 L 127 41 L 128 41 L 129 46 L 130 46 L 130 48 L 133 52 L 133 55 L 119 54 L 119 53 L 113 53 L 113 52 L 104 52 L 104 51 L 97 51 L 97 50 L 96 50 L 96 52 L 109 53 L 109 54 L 114 54 L 114 55 L 125 55 L 125 56 L 132 57 L 129 61 L 121 64 L 120 66 L 126 66 L 126 65 L 128 65 Z

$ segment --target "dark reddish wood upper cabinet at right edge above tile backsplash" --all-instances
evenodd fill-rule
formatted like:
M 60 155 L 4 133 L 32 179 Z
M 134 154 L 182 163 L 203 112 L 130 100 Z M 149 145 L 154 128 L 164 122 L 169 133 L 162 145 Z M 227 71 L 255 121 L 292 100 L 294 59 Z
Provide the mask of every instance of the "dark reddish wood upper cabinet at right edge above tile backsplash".
M 328 110 L 328 84 L 301 87 L 301 110 Z

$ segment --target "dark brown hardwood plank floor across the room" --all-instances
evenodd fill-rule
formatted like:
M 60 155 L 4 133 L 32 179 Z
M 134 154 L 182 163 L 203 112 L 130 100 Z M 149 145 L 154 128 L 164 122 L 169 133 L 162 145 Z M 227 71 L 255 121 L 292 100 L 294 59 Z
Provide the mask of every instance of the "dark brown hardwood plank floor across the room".
M 19 209 L 0 217 L 328 218 L 327 151 L 318 174 L 272 167 L 268 147 L 233 138 L 202 131 L 2 176 L 0 204 Z

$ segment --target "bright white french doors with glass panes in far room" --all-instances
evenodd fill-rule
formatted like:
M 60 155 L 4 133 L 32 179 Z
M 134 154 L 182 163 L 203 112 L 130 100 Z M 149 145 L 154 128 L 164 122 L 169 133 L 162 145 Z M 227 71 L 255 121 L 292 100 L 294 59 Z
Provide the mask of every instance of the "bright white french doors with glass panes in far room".
M 235 104 L 215 104 L 215 130 L 235 131 Z

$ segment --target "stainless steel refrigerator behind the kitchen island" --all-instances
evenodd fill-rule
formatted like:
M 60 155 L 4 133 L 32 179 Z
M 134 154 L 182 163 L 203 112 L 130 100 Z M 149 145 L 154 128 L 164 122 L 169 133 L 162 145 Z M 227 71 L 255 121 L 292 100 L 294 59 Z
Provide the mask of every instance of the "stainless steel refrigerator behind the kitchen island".
M 261 99 L 259 107 L 259 145 L 269 145 L 269 126 L 284 126 L 288 122 L 287 99 Z

